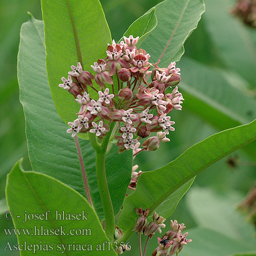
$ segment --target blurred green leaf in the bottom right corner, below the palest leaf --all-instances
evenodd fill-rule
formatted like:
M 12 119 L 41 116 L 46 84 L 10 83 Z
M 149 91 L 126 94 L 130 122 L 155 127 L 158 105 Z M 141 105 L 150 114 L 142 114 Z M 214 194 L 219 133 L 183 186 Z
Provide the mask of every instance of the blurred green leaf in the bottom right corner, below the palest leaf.
M 253 242 L 244 243 L 241 240 L 230 238 L 221 232 L 208 228 L 195 228 L 187 231 L 187 237 L 193 241 L 183 247 L 180 253 L 182 256 L 231 256 L 234 253 L 237 255 L 240 252 L 255 250 Z M 248 256 L 250 255 L 253 254 L 248 254 Z

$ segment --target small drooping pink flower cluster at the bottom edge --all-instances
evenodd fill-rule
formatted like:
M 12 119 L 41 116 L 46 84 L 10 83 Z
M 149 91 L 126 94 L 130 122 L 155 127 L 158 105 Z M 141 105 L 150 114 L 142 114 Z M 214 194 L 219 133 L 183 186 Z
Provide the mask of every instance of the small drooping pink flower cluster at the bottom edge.
M 156 231 L 161 233 L 161 227 L 165 227 L 165 224 L 163 224 L 165 219 L 162 216 L 159 216 L 154 212 L 153 221 L 147 225 L 146 217 L 149 214 L 150 209 L 143 210 L 142 208 L 135 208 L 135 211 L 139 217 L 135 223 L 133 231 L 136 231 L 136 233 L 143 232 L 145 236 L 149 236 L 150 238 L 154 236 Z M 181 233 L 185 228 L 184 223 L 179 224 L 177 220 L 171 220 L 170 227 L 171 229 L 163 235 L 162 239 L 158 238 L 159 246 L 154 250 L 152 256 L 169 256 L 174 255 L 175 253 L 178 255 L 183 246 L 192 241 L 191 239 L 186 238 L 188 232 L 185 232 L 184 234 Z M 172 246 L 172 248 L 170 248 L 168 252 L 170 246 Z

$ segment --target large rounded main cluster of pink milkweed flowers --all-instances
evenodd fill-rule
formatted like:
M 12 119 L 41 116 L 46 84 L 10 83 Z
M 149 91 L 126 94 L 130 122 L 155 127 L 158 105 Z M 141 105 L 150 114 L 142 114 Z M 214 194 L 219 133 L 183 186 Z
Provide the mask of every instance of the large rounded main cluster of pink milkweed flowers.
M 59 87 L 71 93 L 80 104 L 78 118 L 68 123 L 71 128 L 67 132 L 73 137 L 89 132 L 102 139 L 110 131 L 110 123 L 117 122 L 119 134 L 115 138 L 120 153 L 130 148 L 137 152 L 154 151 L 160 142 L 169 141 L 165 135 L 174 131 L 175 122 L 167 114 L 182 109 L 184 99 L 178 88 L 166 92 L 180 82 L 180 69 L 175 62 L 159 68 L 158 63 L 150 62 L 145 50 L 136 48 L 138 36 L 123 38 L 120 44 L 113 40 L 106 58 L 91 65 L 95 75 L 83 71 L 78 62 L 77 67 L 71 66 L 68 79 L 62 77 Z M 150 75 L 152 81 L 147 82 Z M 97 98 L 91 98 L 89 91 L 94 96 L 96 91 Z M 149 137 L 151 132 L 159 133 L 148 138 L 140 149 L 138 141 Z

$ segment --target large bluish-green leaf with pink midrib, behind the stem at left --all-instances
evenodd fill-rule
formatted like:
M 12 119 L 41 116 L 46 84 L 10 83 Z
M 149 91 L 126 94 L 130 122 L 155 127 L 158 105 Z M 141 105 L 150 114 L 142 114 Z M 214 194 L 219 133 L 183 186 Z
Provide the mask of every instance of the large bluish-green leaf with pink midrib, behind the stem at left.
M 43 23 L 33 17 L 22 26 L 18 54 L 20 101 L 26 119 L 29 157 L 33 170 L 50 175 L 85 196 L 74 139 L 58 116 L 46 75 Z M 33 47 L 32 47 L 33 46 Z M 95 151 L 88 140 L 78 139 L 94 207 L 103 219 L 95 173 Z M 120 210 L 131 181 L 132 152 L 118 154 L 113 146 L 106 156 L 106 177 L 114 212 Z

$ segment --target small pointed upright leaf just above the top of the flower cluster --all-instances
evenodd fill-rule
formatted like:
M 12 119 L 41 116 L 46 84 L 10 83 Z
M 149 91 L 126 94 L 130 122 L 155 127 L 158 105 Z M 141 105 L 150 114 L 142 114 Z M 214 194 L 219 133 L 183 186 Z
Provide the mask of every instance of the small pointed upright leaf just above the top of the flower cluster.
M 134 37 L 139 36 L 136 47 L 138 48 L 146 37 L 156 28 L 157 17 L 155 14 L 155 8 L 151 12 L 145 13 L 141 17 L 135 20 L 135 22 L 126 30 L 123 34 L 126 37 L 133 35 Z M 123 40 L 122 38 L 120 41 Z

